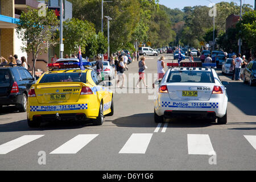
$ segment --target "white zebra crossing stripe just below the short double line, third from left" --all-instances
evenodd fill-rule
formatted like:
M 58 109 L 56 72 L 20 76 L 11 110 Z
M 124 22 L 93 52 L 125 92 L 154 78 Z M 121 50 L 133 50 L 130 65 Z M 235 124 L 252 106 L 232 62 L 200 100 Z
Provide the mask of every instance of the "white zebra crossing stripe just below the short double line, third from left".
M 132 134 L 119 154 L 145 154 L 152 135 L 152 133 Z

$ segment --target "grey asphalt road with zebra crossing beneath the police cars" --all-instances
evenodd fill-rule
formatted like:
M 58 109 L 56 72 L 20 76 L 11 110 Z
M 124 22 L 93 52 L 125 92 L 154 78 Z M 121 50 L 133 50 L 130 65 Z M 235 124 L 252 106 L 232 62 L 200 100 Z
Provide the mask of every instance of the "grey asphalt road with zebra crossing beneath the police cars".
M 150 82 L 158 57 L 146 57 L 148 88 L 135 88 L 138 62 L 128 65 L 126 88 L 112 86 L 114 115 L 102 126 L 55 122 L 31 129 L 26 113 L 3 107 L 0 170 L 255 170 L 256 87 L 217 69 L 229 81 L 226 125 L 189 118 L 158 125 Z

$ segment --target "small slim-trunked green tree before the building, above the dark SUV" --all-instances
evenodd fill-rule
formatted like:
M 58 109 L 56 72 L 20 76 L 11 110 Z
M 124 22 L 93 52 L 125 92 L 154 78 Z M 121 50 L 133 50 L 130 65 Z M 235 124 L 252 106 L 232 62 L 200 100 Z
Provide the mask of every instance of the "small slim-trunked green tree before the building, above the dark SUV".
M 44 11 L 44 10 L 43 10 Z M 43 14 L 37 9 L 30 9 L 22 13 L 16 32 L 23 41 L 22 50 L 32 52 L 33 76 L 35 76 L 36 59 L 40 53 L 47 51 L 48 46 L 55 45 L 56 34 L 53 28 L 58 26 L 59 20 L 53 11 L 46 9 Z M 44 14 L 45 13 L 45 14 Z

